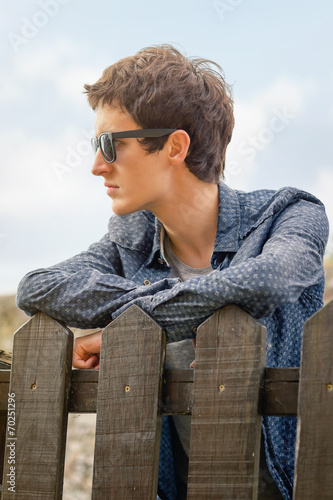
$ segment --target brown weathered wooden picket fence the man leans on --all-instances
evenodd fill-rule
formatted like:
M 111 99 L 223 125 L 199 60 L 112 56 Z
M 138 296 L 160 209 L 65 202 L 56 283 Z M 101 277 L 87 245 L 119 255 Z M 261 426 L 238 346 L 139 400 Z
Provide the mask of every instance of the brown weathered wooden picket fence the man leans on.
M 37 314 L 0 370 L 2 499 L 61 499 L 68 412 L 97 412 L 94 500 L 156 500 L 162 414 L 192 414 L 188 500 L 256 499 L 261 416 L 296 414 L 293 498 L 331 500 L 333 302 L 305 325 L 300 370 L 265 368 L 265 344 L 228 306 L 198 329 L 195 370 L 165 372 L 164 334 L 133 306 L 104 329 L 100 370 L 72 370 L 73 333 Z

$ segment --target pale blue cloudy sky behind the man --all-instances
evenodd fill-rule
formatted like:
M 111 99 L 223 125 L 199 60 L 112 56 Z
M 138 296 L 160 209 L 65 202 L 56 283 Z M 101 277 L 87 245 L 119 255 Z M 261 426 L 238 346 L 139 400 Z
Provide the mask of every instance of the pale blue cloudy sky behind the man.
M 106 233 L 111 200 L 90 172 L 83 85 L 146 46 L 223 68 L 236 120 L 228 185 L 309 191 L 332 225 L 332 22 L 329 0 L 2 1 L 0 294 Z

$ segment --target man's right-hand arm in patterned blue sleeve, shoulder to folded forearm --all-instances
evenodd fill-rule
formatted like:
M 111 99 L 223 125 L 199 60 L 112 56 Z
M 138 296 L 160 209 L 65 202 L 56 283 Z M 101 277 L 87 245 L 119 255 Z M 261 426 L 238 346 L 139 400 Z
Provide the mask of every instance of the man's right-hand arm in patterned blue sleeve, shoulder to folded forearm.
M 327 238 L 323 206 L 302 200 L 277 217 L 260 255 L 132 303 L 165 329 L 169 341 L 194 337 L 193 328 L 227 304 L 238 304 L 256 318 L 269 316 L 323 279 Z

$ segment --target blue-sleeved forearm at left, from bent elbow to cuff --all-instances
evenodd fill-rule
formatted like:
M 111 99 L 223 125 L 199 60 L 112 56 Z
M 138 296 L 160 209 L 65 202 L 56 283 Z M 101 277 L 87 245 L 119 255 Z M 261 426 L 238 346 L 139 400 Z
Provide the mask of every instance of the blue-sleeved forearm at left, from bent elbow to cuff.
M 169 289 L 178 282 L 164 279 L 147 287 L 93 269 L 69 275 L 54 268 L 42 269 L 21 281 L 17 304 L 30 315 L 41 311 L 68 326 L 103 328 L 111 321 L 112 313 L 124 304 Z

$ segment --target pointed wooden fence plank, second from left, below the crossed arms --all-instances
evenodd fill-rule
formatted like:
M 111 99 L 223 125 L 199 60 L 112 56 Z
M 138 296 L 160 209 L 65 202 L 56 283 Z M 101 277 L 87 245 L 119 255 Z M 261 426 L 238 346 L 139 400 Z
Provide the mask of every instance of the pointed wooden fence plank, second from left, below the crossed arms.
M 136 306 L 103 331 L 93 500 L 156 500 L 163 339 Z

